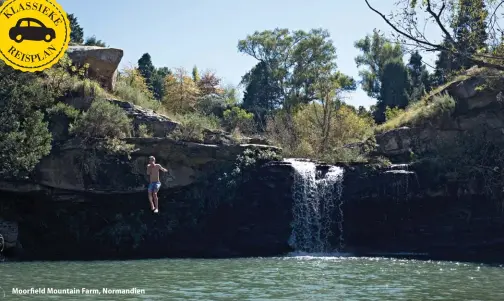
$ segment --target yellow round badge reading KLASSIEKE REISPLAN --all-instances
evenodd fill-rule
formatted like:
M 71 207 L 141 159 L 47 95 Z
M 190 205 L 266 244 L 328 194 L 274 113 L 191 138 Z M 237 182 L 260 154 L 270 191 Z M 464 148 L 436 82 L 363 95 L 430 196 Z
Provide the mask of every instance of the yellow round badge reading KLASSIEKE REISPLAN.
M 50 68 L 69 42 L 70 22 L 55 0 L 7 0 L 0 6 L 0 59 L 12 68 Z

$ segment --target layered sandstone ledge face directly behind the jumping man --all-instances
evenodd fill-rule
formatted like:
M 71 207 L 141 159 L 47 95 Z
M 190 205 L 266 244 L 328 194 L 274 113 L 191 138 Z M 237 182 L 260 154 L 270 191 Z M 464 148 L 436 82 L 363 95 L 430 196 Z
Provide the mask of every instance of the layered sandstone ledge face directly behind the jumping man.
M 170 175 L 161 174 L 161 189 L 176 188 L 197 182 L 219 165 L 234 162 L 245 149 L 281 151 L 267 145 L 212 145 L 170 138 L 130 138 L 126 142 L 135 146 L 131 159 L 108 156 L 87 149 L 77 141 L 68 141 L 40 161 L 31 185 L 2 182 L 0 187 L 13 192 L 40 191 L 40 185 L 76 192 L 144 192 L 148 183 L 145 175 L 148 157 L 153 155 L 170 170 Z

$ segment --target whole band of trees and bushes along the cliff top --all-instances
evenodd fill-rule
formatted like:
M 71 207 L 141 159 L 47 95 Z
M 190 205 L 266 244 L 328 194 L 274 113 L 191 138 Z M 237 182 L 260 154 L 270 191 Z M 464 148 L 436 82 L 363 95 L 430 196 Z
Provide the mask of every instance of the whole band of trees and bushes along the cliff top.
M 19 73 L 1 64 L 1 172 L 26 173 L 49 152 L 47 128 L 54 114 L 66 115 L 72 124 L 70 134 L 86 141 L 150 135 L 145 126 L 133 130 L 125 113 L 110 103 L 97 101 L 88 112 L 78 112 L 60 101 L 71 96 L 118 98 L 152 109 L 182 124 L 172 133 L 178 139 L 202 141 L 205 129 L 224 130 L 235 137 L 266 137 L 281 146 L 285 156 L 366 161 L 371 149 L 349 145 L 370 141 L 376 132 L 451 112 L 456 100 L 439 92 L 454 80 L 472 76 L 467 70 L 472 65 L 504 69 L 500 36 L 492 27 L 497 16 L 489 14 L 498 8 L 495 2 L 400 4 L 405 6 L 398 6 L 395 16 L 401 19 L 388 19 L 369 6 L 398 37 L 394 40 L 374 30 L 356 39 L 360 79 L 338 70 L 336 47 L 324 29 L 277 28 L 239 40 L 238 51 L 257 60 L 242 77 L 242 99 L 239 87 L 223 85 L 214 71 L 154 66 L 148 53 L 136 66 L 120 71 L 114 91 L 102 89 L 87 78 L 86 68 L 76 69 L 67 58 L 37 74 Z M 420 10 L 427 10 L 436 21 L 442 43 L 413 30 L 420 28 Z M 84 39 L 77 17 L 70 14 L 69 18 L 72 43 L 105 45 L 94 37 Z M 438 52 L 433 72 L 423 62 L 424 50 Z M 377 100 L 370 110 L 345 101 L 358 84 Z

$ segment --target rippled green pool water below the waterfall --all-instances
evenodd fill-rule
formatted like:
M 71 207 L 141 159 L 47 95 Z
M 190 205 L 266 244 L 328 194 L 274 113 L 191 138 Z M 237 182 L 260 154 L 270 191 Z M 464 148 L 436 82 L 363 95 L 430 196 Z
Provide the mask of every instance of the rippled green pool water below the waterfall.
M 0 273 L 6 300 L 504 300 L 502 267 L 386 258 L 3 263 Z M 145 293 L 23 298 L 13 288 Z

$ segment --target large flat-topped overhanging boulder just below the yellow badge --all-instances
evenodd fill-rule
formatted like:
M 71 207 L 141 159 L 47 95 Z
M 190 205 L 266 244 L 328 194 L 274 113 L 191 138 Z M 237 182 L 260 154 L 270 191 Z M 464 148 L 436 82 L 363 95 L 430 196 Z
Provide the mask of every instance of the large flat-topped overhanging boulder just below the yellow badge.
M 114 90 L 117 67 L 123 57 L 121 49 L 70 46 L 67 54 L 78 66 L 89 64 L 89 77 L 97 80 L 104 88 Z

